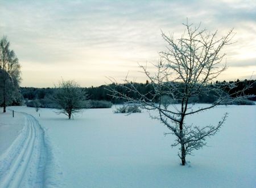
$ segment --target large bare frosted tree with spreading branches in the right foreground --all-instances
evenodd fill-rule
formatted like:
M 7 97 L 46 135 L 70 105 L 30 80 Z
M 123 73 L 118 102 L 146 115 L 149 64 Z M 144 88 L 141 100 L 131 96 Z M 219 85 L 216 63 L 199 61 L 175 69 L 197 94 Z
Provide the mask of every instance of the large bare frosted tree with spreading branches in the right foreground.
M 147 110 L 157 110 L 158 116 L 152 118 L 159 119 L 161 123 L 170 129 L 170 133 L 176 136 L 176 141 L 172 146 L 180 146 L 179 157 L 181 164 L 186 164 L 186 156 L 190 155 L 194 149 L 200 149 L 206 142 L 207 137 L 217 133 L 224 124 L 227 114 L 224 114 L 216 126 L 195 126 L 188 125 L 185 117 L 214 108 L 225 99 L 241 99 L 243 91 L 238 91 L 229 95 L 229 90 L 236 87 L 236 83 L 210 84 L 218 75 L 226 70 L 226 65 L 222 64 L 225 53 L 221 53 L 224 46 L 232 44 L 230 40 L 234 36 L 233 31 L 229 31 L 225 36 L 217 38 L 217 31 L 208 32 L 206 29 L 194 27 L 192 24 L 184 24 L 185 32 L 180 39 L 175 40 L 174 35 L 166 35 L 162 32 L 164 41 L 167 42 L 167 49 L 160 52 L 160 60 L 156 67 L 156 72 L 151 75 L 146 66 L 140 66 L 147 79 L 150 80 L 154 92 L 148 95 L 140 93 L 132 82 L 127 78 L 126 84 L 120 84 L 126 91 L 137 94 L 137 99 L 118 92 L 115 88 L 110 88 L 112 96 L 125 99 L 141 106 Z M 111 85 L 110 85 L 111 86 Z M 113 86 L 113 85 L 112 85 Z M 189 105 L 189 100 L 198 96 L 201 92 L 212 91 L 217 97 L 217 101 L 193 109 Z M 162 104 L 163 97 L 169 96 L 172 100 L 179 102 L 174 108 L 167 108 L 167 104 Z

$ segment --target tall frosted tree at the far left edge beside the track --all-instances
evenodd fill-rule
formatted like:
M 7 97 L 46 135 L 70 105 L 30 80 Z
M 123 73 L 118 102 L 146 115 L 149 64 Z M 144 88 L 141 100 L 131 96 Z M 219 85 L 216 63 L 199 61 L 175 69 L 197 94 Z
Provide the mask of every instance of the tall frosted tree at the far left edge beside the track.
M 19 97 L 20 65 L 13 50 L 10 50 L 10 42 L 7 37 L 0 41 L 0 92 L 3 112 L 6 106 Z

